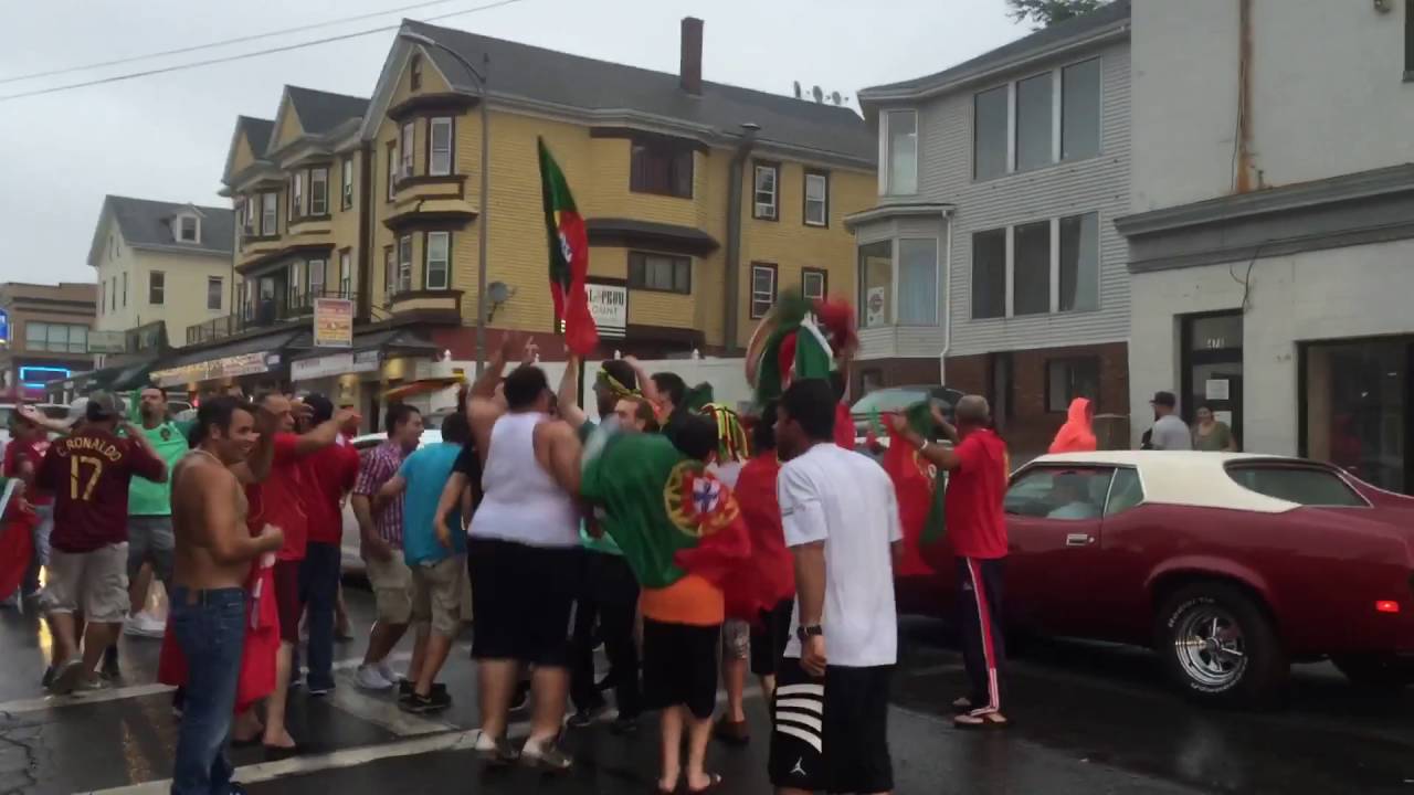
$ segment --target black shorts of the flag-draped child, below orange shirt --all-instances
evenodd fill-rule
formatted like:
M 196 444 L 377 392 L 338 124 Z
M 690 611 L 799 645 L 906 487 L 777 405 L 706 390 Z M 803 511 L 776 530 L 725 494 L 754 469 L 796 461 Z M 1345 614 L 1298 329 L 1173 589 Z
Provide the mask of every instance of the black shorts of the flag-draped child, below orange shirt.
M 693 717 L 717 712 L 717 659 L 721 625 L 693 627 L 643 620 L 643 706 L 684 704 Z

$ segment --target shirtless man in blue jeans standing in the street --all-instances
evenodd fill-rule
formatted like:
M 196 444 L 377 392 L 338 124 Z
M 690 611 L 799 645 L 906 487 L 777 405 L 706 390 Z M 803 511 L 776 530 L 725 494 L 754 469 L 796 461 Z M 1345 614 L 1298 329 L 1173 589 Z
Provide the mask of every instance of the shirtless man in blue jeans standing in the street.
M 246 579 L 262 555 L 274 555 L 284 536 L 266 526 L 246 528 L 242 481 L 269 468 L 269 434 L 257 448 L 253 409 L 236 398 L 212 398 L 197 412 L 192 451 L 173 475 L 171 631 L 187 656 L 187 703 L 177 740 L 173 794 L 225 794 L 226 758 L 240 649 L 246 624 Z M 262 427 L 273 426 L 263 417 Z M 250 461 L 247 461 L 250 460 Z

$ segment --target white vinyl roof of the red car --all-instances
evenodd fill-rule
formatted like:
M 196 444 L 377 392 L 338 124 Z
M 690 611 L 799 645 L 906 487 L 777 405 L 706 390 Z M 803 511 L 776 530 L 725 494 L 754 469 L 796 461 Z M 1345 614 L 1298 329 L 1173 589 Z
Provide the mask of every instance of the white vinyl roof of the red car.
M 1144 502 L 1191 505 L 1195 508 L 1226 508 L 1282 513 L 1298 504 L 1257 494 L 1237 484 L 1225 467 L 1233 461 L 1290 461 L 1308 463 L 1284 455 L 1251 453 L 1198 453 L 1186 450 L 1099 450 L 1094 453 L 1062 453 L 1041 455 L 1034 465 L 1114 465 L 1133 467 L 1144 485 Z

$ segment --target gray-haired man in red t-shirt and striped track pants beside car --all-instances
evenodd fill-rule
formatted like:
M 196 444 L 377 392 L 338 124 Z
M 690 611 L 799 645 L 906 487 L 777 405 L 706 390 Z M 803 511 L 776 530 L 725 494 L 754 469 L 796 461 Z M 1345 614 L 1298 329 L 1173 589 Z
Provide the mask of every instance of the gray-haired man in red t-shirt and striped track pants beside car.
M 908 429 L 902 416 L 894 427 L 919 454 L 947 472 L 943 515 L 947 538 L 957 559 L 962 588 L 963 662 L 971 693 L 953 702 L 953 719 L 964 729 L 1004 729 L 1001 714 L 1001 668 L 1005 646 L 1001 635 L 1003 562 L 1007 557 L 1007 444 L 991 427 L 991 409 L 980 395 L 957 402 L 957 427 L 933 406 L 933 420 L 952 447 L 942 447 Z

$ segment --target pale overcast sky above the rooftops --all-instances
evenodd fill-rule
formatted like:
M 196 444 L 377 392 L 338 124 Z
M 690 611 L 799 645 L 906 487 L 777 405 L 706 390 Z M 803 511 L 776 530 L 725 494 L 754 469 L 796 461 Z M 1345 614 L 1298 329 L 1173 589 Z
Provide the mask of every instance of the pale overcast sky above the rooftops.
M 488 1 L 448 0 L 255 42 L 0 82 L 0 96 L 355 33 L 396 24 L 404 16 L 427 18 Z M 0 81 L 413 3 L 6 3 Z M 684 16 L 706 20 L 706 79 L 776 93 L 790 93 L 792 81 L 799 79 L 851 99 L 863 86 L 935 72 L 1028 31 L 1011 23 L 1004 0 L 519 0 L 434 24 L 676 72 Z M 216 191 L 236 115 L 274 117 L 286 83 L 369 96 L 392 38 L 390 31 L 378 33 L 0 100 L 0 282 L 92 282 L 88 246 L 105 194 L 226 207 Z

